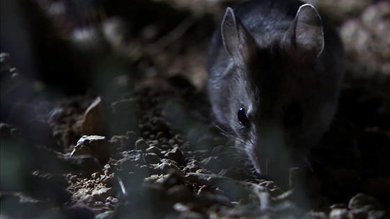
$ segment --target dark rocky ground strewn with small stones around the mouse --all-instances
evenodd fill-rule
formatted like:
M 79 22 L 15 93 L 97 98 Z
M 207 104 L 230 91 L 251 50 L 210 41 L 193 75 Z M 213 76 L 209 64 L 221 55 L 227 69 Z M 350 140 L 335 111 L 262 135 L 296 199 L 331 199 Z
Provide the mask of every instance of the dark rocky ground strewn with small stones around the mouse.
M 42 72 L 89 73 L 66 72 L 61 84 L 50 71 L 31 79 L 14 67 L 19 55 L 0 55 L 1 218 L 390 217 L 387 1 L 311 1 L 339 27 L 348 66 L 334 123 L 309 154 L 313 170 L 292 168 L 288 185 L 237 156 L 201 89 L 212 24 L 231 2 L 134 1 L 164 6 L 182 21 L 173 27 L 137 27 L 123 5 L 102 5 L 104 19 L 88 11 L 100 20 L 90 29 L 66 19 L 65 1 L 37 2 L 61 26 L 54 42 L 77 52 Z

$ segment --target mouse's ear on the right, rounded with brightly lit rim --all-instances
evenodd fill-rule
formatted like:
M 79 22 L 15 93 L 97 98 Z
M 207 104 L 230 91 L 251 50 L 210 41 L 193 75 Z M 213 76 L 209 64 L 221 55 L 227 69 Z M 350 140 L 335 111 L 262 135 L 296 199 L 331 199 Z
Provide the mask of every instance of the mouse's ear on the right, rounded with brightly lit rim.
M 290 37 L 299 56 L 316 58 L 324 49 L 322 19 L 317 10 L 305 3 L 300 6 L 290 26 Z

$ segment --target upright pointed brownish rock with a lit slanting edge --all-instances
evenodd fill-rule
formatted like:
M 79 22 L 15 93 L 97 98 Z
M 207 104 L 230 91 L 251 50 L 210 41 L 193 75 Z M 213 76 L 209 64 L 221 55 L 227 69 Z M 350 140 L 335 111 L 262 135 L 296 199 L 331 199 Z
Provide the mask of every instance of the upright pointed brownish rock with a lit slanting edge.
M 81 134 L 104 135 L 104 127 L 102 99 L 96 97 L 84 113 L 84 120 L 81 123 Z

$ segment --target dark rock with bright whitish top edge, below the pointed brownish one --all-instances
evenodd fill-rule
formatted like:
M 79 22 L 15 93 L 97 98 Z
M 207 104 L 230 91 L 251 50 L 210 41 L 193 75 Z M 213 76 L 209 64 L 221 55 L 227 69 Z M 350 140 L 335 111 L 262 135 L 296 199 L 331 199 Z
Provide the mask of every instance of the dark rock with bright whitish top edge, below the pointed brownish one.
M 108 141 L 104 136 L 82 136 L 70 156 L 91 155 L 99 161 L 107 161 L 111 155 Z

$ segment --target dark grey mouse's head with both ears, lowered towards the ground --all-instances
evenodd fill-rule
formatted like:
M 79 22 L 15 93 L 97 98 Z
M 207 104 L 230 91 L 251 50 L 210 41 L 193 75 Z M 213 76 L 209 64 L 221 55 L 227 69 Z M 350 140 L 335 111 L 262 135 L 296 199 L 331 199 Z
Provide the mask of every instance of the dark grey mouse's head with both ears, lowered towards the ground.
M 329 126 L 337 99 L 318 65 L 320 15 L 304 4 L 288 28 L 253 35 L 228 8 L 221 36 L 231 63 L 218 84 L 211 82 L 223 90 L 213 103 L 219 122 L 260 174 L 302 163 Z

